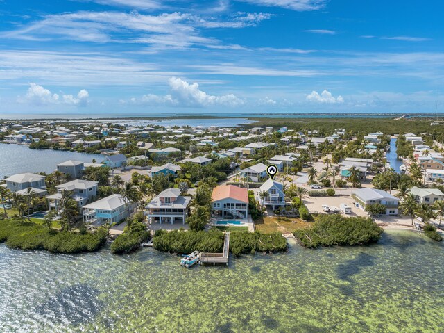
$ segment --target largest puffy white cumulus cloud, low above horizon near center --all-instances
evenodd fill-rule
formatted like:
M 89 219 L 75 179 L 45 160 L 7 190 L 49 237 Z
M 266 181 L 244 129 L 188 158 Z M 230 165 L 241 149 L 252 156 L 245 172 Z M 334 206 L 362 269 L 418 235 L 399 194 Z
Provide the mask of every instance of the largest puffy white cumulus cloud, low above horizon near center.
M 165 96 L 148 94 L 142 98 L 130 99 L 133 104 L 167 105 L 167 106 L 241 106 L 244 101 L 233 94 L 210 95 L 200 90 L 198 83 L 188 83 L 177 77 L 169 79 L 170 94 Z

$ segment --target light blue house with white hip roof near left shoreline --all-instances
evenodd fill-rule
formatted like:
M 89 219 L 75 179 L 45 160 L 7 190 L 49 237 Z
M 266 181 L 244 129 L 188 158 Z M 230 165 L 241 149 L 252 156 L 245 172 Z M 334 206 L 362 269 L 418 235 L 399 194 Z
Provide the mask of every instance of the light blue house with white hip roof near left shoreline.
M 126 204 L 123 197 L 113 194 L 83 206 L 83 222 L 92 225 L 117 223 L 135 211 L 135 204 Z

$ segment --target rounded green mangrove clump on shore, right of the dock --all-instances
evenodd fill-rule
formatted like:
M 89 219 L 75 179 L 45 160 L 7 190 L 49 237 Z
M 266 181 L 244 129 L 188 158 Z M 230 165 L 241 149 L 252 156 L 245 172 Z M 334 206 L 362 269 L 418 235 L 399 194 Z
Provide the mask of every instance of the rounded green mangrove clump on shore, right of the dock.
M 321 215 L 311 229 L 299 229 L 293 234 L 303 246 L 315 248 L 319 245 L 368 245 L 379 241 L 382 232 L 371 218 Z

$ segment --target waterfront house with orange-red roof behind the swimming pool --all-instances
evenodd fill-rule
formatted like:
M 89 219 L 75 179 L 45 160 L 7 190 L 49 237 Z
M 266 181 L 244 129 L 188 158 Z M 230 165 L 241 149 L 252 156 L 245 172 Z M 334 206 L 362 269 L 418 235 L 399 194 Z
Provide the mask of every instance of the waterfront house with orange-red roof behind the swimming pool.
M 222 218 L 248 217 L 248 190 L 234 185 L 221 185 L 213 189 L 212 213 Z

